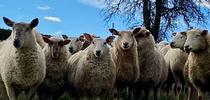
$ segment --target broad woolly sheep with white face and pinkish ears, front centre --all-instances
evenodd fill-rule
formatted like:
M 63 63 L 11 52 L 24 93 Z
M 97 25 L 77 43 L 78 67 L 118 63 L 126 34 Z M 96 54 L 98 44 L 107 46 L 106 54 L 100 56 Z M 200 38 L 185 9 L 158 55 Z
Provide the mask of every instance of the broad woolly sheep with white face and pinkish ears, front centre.
M 87 36 L 92 42 L 79 58 L 74 75 L 77 95 L 109 100 L 116 78 L 116 67 L 107 46 L 110 41 Z

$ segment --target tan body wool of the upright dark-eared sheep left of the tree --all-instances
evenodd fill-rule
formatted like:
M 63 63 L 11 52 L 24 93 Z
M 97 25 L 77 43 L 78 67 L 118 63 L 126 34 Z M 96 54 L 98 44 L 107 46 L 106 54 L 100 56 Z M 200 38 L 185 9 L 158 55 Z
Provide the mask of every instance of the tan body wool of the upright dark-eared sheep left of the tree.
M 133 37 L 133 45 L 129 50 L 122 50 L 120 38 L 117 38 L 111 49 L 112 59 L 117 68 L 116 85 L 126 87 L 136 82 L 139 76 L 137 42 Z

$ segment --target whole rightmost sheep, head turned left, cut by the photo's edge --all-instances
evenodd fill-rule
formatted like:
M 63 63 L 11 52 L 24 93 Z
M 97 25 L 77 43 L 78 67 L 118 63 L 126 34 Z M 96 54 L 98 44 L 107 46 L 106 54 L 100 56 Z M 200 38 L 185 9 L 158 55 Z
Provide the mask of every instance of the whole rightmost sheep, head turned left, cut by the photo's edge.
M 184 50 L 190 52 L 186 66 L 188 78 L 198 93 L 198 100 L 210 92 L 210 49 L 208 30 L 191 29 L 187 32 Z

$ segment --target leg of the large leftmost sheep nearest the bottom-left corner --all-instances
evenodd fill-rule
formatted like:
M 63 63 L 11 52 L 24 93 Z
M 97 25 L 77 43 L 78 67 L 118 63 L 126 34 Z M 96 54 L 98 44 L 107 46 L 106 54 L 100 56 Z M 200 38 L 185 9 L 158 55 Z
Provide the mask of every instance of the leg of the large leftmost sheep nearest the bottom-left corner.
M 5 87 L 6 87 L 9 99 L 10 100 L 17 100 L 14 88 L 12 88 L 11 86 L 8 86 L 8 85 L 5 85 Z

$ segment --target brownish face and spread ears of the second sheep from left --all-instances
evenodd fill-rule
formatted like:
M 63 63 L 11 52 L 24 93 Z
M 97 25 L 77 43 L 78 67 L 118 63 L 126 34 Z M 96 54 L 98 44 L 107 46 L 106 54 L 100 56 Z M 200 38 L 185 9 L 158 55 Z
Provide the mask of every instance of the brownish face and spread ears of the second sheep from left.
M 68 39 L 63 40 L 56 37 L 43 37 L 43 40 L 48 44 L 52 58 L 58 58 L 62 50 L 66 49 L 65 45 L 70 42 Z

